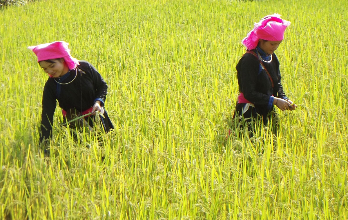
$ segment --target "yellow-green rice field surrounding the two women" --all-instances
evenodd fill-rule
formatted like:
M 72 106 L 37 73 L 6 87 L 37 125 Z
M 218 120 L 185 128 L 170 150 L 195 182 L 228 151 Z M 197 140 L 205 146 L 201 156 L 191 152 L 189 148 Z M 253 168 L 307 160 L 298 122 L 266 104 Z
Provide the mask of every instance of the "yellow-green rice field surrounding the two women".
M 0 11 L 0 219 L 347 219 L 348 2 L 47 0 Z M 291 21 L 276 54 L 277 137 L 231 127 L 254 22 Z M 115 129 L 74 141 L 28 46 L 64 40 L 109 85 Z M 238 135 L 242 133 L 242 135 Z M 87 148 L 86 146 L 89 146 Z M 261 153 L 263 152 L 263 153 Z

